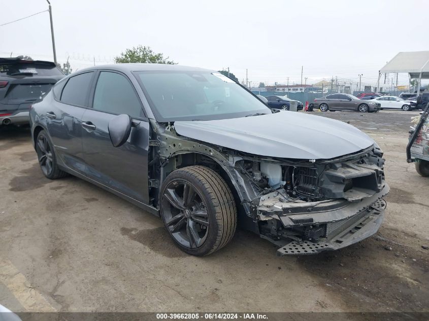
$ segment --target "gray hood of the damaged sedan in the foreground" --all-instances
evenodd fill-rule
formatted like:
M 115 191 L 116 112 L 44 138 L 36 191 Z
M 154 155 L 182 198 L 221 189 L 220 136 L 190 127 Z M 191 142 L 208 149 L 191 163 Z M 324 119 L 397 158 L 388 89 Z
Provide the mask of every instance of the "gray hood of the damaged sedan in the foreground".
M 255 155 L 329 159 L 358 152 L 374 140 L 357 128 L 321 116 L 282 111 L 253 117 L 176 121 L 179 135 Z

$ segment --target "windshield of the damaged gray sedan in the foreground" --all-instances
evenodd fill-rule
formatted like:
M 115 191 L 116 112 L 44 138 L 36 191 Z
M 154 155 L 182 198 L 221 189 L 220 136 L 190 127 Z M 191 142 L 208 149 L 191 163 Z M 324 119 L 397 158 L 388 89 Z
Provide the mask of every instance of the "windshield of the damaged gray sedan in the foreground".
M 136 72 L 157 121 L 214 120 L 270 114 L 233 80 L 216 72 Z

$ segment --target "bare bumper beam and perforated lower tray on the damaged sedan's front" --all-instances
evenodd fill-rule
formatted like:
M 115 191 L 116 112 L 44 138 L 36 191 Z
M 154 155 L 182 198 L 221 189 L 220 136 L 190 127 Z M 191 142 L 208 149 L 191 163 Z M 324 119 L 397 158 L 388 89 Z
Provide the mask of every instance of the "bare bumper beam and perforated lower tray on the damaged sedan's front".
M 276 240 L 272 240 L 268 235 L 261 237 L 272 240 L 280 246 L 277 251 L 280 256 L 317 254 L 346 247 L 378 231 L 386 207 L 382 197 L 389 190 L 389 186 L 385 184 L 380 192 L 357 202 L 337 199 L 314 203 L 290 203 L 272 195 L 261 198 L 258 207 L 259 220 L 280 220 L 281 231 L 276 232 L 283 235 Z M 317 241 L 308 240 L 305 235 L 290 233 L 313 227 L 316 230 L 324 229 L 323 235 Z

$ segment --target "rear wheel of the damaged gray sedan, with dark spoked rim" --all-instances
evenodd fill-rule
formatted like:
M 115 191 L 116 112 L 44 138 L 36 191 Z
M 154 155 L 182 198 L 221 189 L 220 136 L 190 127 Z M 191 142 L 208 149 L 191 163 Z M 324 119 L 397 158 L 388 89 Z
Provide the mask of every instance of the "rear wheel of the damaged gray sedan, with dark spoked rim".
M 55 151 L 52 142 L 45 130 L 41 130 L 36 138 L 36 152 L 42 173 L 50 180 L 61 179 L 68 175 L 59 169 L 56 162 Z

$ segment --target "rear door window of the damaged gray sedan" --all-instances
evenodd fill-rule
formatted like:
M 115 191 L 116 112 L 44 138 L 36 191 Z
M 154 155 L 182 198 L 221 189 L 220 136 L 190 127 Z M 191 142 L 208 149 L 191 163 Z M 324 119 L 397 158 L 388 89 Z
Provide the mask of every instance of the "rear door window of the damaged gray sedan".
M 77 106 L 87 106 L 87 97 L 93 72 L 69 78 L 61 94 L 61 102 Z

